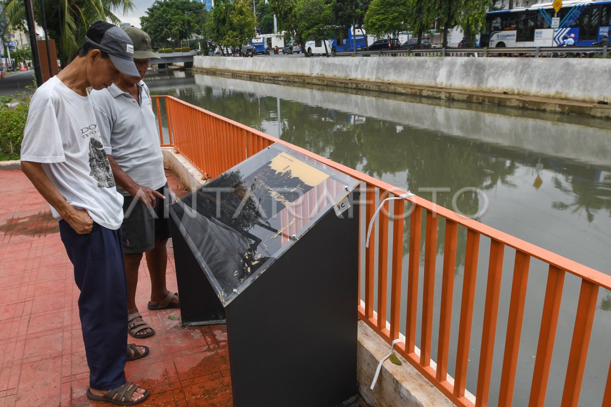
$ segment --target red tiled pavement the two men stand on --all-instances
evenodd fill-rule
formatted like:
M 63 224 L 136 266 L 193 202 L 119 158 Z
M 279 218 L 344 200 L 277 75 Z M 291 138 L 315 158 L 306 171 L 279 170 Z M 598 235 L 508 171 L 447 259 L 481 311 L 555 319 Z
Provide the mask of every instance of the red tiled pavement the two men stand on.
M 169 181 L 181 187 L 173 176 Z M 106 405 L 85 397 L 79 293 L 57 222 L 21 171 L 0 171 L 0 185 L 0 407 Z M 175 289 L 171 242 L 168 251 L 167 281 Z M 148 311 L 149 294 L 143 261 L 136 302 L 156 334 L 129 337 L 151 350 L 125 369 L 128 380 L 151 392 L 139 406 L 231 406 L 225 326 L 183 328 L 168 318 L 180 316 L 178 309 Z

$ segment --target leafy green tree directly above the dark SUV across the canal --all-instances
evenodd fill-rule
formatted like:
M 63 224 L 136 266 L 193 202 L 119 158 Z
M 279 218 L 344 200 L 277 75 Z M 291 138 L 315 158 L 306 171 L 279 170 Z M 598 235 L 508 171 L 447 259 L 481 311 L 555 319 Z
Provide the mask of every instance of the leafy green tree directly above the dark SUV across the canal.
M 365 14 L 365 29 L 377 37 L 398 38 L 408 18 L 408 0 L 371 0 Z

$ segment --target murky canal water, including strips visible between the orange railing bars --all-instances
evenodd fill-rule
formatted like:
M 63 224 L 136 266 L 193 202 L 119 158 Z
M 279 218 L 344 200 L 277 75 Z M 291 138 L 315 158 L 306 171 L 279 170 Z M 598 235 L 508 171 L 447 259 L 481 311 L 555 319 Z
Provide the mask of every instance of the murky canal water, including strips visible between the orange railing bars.
M 149 73 L 153 95 L 188 103 L 309 149 L 588 267 L 611 273 L 611 122 L 439 99 L 284 85 L 185 71 Z M 469 192 L 461 192 L 468 188 Z M 433 197 L 431 189 L 436 189 Z M 477 189 L 480 192 L 471 192 Z M 391 206 L 392 209 L 392 206 Z M 439 236 L 444 222 L 439 220 Z M 409 218 L 405 221 L 409 242 Z M 424 235 L 424 233 L 423 233 Z M 466 230 L 459 229 L 448 374 L 454 375 Z M 443 239 L 437 242 L 433 355 L 437 357 Z M 489 240 L 481 239 L 467 389 L 477 391 Z M 491 396 L 497 405 L 514 250 L 505 250 Z M 408 245 L 403 279 L 407 279 Z M 423 256 L 423 254 L 422 254 Z M 421 264 L 423 261 L 421 261 Z M 547 267 L 530 262 L 513 405 L 528 404 Z M 422 292 L 422 270 L 420 275 Z M 404 287 L 407 287 L 404 281 Z M 580 280 L 567 275 L 547 388 L 560 405 Z M 390 292 L 390 290 L 389 290 Z M 401 319 L 405 319 L 406 295 Z M 419 324 L 421 303 L 419 304 Z M 401 326 L 404 333 L 405 323 Z M 599 406 L 609 372 L 611 293 L 601 290 L 580 397 Z M 417 332 L 417 345 L 420 332 Z M 372 372 L 373 373 L 373 372 Z

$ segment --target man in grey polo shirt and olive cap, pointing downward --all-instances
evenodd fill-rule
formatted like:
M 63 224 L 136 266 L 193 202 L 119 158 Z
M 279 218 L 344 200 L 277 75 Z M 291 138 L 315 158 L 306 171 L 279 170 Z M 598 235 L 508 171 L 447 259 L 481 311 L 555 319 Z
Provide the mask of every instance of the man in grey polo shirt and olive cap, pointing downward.
M 166 287 L 170 237 L 169 189 L 155 127 L 150 93 L 142 81 L 150 59 L 150 37 L 136 27 L 123 27 L 134 43 L 134 63 L 140 77 L 122 75 L 116 84 L 90 95 L 104 148 L 124 196 L 123 251 L 127 276 L 128 332 L 136 338 L 155 330 L 142 320 L 136 306 L 138 268 L 145 254 L 151 278 L 148 309 L 179 308 L 178 294 Z

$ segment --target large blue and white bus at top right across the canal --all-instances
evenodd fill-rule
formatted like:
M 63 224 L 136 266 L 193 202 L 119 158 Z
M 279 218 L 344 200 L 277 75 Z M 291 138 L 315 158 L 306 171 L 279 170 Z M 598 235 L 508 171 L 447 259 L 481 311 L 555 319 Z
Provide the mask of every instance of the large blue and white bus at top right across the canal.
M 552 18 L 560 18 L 552 28 Z M 611 1 L 566 0 L 556 13 L 552 3 L 533 4 L 513 10 L 489 12 L 481 46 L 551 47 L 562 43 L 565 35 L 574 34 L 575 45 L 591 46 L 609 32 Z

